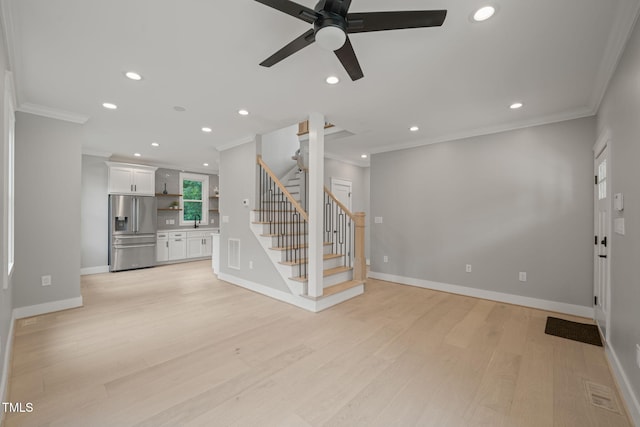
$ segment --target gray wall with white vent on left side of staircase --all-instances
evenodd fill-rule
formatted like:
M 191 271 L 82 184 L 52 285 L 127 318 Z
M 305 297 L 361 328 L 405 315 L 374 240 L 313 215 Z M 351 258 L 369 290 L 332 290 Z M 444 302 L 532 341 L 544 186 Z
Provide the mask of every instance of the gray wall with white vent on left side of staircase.
M 249 213 L 256 209 L 256 177 L 251 172 L 256 170 L 256 155 L 255 142 L 220 153 L 220 218 L 229 217 L 228 223 L 220 225 L 220 271 L 289 292 L 287 284 L 249 228 Z M 243 199 L 250 200 L 250 207 L 242 205 Z M 240 270 L 227 266 L 230 238 L 240 239 Z M 253 261 L 253 269 L 249 269 L 250 261 Z

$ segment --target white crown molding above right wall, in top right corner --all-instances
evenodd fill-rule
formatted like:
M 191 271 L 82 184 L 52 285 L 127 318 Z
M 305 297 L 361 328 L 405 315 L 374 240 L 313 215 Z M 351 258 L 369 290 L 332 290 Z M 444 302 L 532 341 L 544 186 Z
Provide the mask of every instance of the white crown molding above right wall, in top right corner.
M 620 11 L 613 23 L 611 34 L 609 34 L 609 40 L 604 51 L 604 58 L 600 63 L 600 69 L 596 76 L 594 90 L 591 94 L 590 104 L 592 109 L 597 112 L 600 109 L 600 104 L 604 98 L 609 82 L 613 77 L 618 63 L 622 58 L 624 49 L 627 45 L 629 37 L 633 32 L 638 15 L 640 14 L 640 2 L 627 1 L 622 2 Z

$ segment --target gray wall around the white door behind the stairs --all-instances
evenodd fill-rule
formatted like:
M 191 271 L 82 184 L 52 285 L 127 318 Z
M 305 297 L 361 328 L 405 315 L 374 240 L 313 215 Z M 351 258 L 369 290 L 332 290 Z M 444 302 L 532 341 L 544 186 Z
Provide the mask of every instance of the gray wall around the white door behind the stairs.
M 324 185 L 331 189 L 331 178 L 343 179 L 352 183 L 351 209 L 353 212 L 364 212 L 365 222 L 365 256 L 370 253 L 369 222 L 369 168 L 352 165 L 339 160 L 324 159 Z

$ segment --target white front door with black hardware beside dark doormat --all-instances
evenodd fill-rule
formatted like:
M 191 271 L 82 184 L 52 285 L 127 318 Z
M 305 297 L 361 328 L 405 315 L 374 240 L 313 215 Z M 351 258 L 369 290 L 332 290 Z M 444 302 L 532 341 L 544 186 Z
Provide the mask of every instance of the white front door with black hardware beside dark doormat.
M 608 161 L 609 148 L 605 145 L 595 153 L 595 250 L 594 250 L 594 309 L 595 320 L 602 336 L 607 339 L 607 327 L 609 320 L 609 249 L 611 246 L 610 223 L 611 223 L 611 194 L 610 176 L 611 171 Z

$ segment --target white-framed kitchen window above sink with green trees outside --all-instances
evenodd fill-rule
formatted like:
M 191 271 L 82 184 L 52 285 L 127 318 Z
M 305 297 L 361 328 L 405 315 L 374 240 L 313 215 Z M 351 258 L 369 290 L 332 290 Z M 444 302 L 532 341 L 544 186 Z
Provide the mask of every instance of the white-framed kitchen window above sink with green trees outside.
M 209 176 L 193 173 L 180 174 L 180 225 L 209 223 Z

